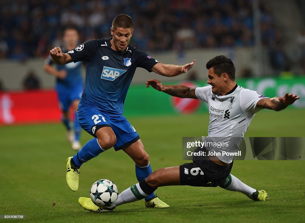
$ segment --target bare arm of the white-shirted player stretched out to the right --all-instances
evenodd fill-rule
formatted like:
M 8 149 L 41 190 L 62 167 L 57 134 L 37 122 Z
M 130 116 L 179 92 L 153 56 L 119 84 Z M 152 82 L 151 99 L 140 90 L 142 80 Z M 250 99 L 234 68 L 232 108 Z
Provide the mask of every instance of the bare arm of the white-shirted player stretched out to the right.
M 267 108 L 274 111 L 280 111 L 293 104 L 297 99 L 300 99 L 298 95 L 286 93 L 283 97 L 260 99 L 256 106 L 259 108 Z

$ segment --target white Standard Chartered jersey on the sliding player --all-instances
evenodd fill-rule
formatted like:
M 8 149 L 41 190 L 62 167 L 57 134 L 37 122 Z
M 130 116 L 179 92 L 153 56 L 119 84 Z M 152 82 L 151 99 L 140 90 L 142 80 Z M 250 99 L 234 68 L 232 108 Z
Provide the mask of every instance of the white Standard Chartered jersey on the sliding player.
M 248 130 L 251 120 L 255 113 L 260 110 L 256 106 L 257 102 L 262 98 L 266 98 L 256 91 L 251 91 L 237 85 L 226 95 L 213 94 L 212 86 L 196 88 L 195 94 L 200 101 L 206 102 L 209 105 L 210 123 L 208 137 L 219 137 L 220 141 L 221 138 L 223 138 L 222 140 L 235 139 L 235 143 L 231 140 L 231 146 L 221 148 L 221 151 L 227 152 L 236 152 L 238 150 L 240 141 Z M 203 141 L 206 141 L 205 137 L 203 137 Z M 217 147 L 207 149 L 215 152 Z M 224 163 L 231 163 L 233 160 L 233 156 L 217 157 Z

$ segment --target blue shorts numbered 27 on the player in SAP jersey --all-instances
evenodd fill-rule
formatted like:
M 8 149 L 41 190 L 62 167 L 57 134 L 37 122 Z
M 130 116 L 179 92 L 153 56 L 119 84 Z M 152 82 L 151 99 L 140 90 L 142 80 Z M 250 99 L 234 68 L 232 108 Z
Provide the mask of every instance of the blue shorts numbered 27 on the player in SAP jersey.
M 77 110 L 77 118 L 81 128 L 94 137 L 98 129 L 111 127 L 117 137 L 117 142 L 113 146 L 115 151 L 124 149 L 140 139 L 135 128 L 124 116 L 111 117 L 95 108 L 81 107 Z

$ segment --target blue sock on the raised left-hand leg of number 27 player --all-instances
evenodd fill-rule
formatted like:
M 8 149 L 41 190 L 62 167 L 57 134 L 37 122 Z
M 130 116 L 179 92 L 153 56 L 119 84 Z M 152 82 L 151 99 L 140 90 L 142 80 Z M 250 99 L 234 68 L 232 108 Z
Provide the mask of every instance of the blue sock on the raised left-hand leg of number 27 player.
M 97 142 L 97 138 L 92 138 L 73 156 L 73 161 L 78 167 L 81 167 L 83 163 L 91 160 L 104 151 L 105 150 L 102 149 Z

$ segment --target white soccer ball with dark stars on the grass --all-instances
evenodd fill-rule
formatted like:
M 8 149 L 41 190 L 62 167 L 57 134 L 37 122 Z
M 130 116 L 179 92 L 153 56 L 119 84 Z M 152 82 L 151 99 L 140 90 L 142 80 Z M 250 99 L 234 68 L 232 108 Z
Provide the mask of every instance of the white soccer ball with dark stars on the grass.
M 90 198 L 92 202 L 99 207 L 109 207 L 119 195 L 117 186 L 107 179 L 96 181 L 90 189 Z

